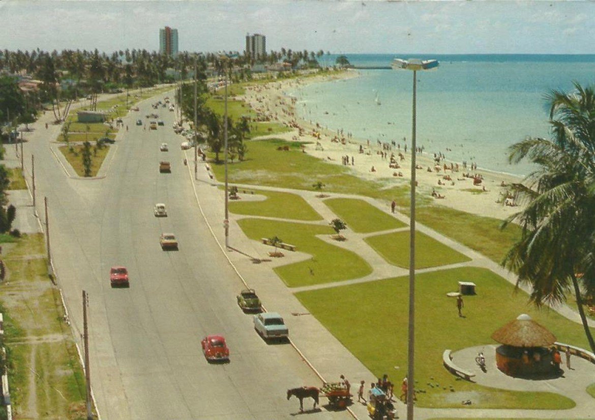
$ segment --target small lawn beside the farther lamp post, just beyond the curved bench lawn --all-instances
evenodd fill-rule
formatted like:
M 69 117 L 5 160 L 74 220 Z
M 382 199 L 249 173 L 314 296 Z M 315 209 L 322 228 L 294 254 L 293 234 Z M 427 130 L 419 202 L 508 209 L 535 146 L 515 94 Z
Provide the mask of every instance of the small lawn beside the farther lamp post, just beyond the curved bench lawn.
M 265 195 L 264 201 L 233 201 L 229 202 L 229 210 L 246 216 L 283 217 L 293 220 L 322 220 L 312 207 L 297 194 L 277 191 L 258 191 L 256 194 Z

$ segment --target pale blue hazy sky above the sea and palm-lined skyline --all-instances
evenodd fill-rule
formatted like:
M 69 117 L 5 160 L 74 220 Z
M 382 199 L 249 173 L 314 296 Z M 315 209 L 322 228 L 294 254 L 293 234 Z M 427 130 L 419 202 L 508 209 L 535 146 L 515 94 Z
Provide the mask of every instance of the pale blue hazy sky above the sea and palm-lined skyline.
M 330 53 L 595 53 L 595 1 L 0 0 L 0 49 Z M 591 17 L 591 18 L 590 18 Z

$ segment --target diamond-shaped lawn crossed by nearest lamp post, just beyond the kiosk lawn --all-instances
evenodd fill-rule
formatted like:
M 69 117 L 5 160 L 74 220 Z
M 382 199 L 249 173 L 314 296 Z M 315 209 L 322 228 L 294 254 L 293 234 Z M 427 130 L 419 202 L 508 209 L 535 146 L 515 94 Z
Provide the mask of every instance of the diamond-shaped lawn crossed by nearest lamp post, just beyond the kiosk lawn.
M 364 241 L 390 264 L 404 269 L 409 267 L 409 230 L 368 236 Z M 469 261 L 465 255 L 421 232 L 415 235 L 415 251 L 415 267 L 418 269 Z

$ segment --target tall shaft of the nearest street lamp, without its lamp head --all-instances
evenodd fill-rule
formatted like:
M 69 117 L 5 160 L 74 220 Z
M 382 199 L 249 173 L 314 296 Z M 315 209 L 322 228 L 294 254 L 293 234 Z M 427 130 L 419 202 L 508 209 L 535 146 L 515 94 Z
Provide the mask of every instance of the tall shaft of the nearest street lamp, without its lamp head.
M 414 362 L 415 362 L 415 100 L 417 95 L 417 72 L 413 71 L 413 121 L 411 128 L 411 222 L 409 223 L 409 337 L 407 367 L 407 419 L 414 420 Z

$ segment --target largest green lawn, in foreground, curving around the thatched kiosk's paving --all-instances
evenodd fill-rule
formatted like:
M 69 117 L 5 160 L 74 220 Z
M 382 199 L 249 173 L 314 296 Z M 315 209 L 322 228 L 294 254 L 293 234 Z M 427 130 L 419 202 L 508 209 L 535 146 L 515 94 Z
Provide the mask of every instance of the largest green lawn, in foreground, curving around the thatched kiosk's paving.
M 465 318 L 458 317 L 455 299 L 446 297 L 462 279 L 472 279 L 478 292 L 465 297 Z M 458 380 L 442 366 L 442 353 L 444 349 L 456 351 L 494 343 L 491 334 L 522 312 L 546 326 L 558 340 L 584 348 L 587 341 L 579 324 L 554 311 L 528 306 L 524 292 L 514 293 L 512 285 L 489 270 L 464 267 L 422 273 L 417 275 L 415 287 L 419 406 L 461 408 L 464 399 L 471 399 L 474 408 L 574 406 L 558 394 L 498 390 Z M 299 292 L 296 296 L 375 377 L 387 373 L 400 383 L 407 371 L 408 277 Z

